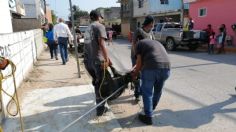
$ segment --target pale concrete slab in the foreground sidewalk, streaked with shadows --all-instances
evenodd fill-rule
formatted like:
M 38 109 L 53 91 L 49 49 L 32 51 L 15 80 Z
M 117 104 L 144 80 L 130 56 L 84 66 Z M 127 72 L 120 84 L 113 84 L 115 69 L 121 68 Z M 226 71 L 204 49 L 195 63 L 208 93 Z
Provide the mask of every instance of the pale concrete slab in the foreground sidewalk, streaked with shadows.
M 94 106 L 95 102 L 91 98 L 93 96 L 93 93 L 86 93 L 49 102 L 40 106 L 45 107 L 44 112 L 40 112 L 37 108 L 32 108 L 33 110 L 31 109 L 30 111 L 33 111 L 36 114 L 24 116 L 25 132 L 58 132 L 62 130 Z M 24 112 L 26 112 L 26 110 L 24 110 Z M 66 132 L 111 131 L 117 128 L 114 127 L 114 125 L 111 125 L 114 120 L 115 119 L 111 119 L 107 121 L 107 119 L 102 119 L 102 117 L 97 118 L 95 116 L 95 111 L 93 111 L 85 116 L 85 118 L 66 129 Z M 20 130 L 19 118 L 9 118 L 4 124 L 4 130 L 6 132 Z

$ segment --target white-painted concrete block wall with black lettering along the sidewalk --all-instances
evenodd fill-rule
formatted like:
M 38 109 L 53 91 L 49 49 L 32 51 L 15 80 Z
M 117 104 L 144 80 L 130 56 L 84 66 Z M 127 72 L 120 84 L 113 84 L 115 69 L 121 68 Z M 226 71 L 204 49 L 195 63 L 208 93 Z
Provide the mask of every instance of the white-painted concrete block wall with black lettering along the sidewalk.
M 11 34 L 0 35 L 1 56 L 13 61 L 16 65 L 16 85 L 20 86 L 21 82 L 26 78 L 32 69 L 37 57 L 43 51 L 43 33 L 40 29 L 17 32 Z M 2 71 L 3 75 L 11 73 L 11 67 L 8 66 Z M 14 94 L 13 78 L 8 78 L 2 82 L 3 89 L 9 94 Z M 6 111 L 6 105 L 10 101 L 10 97 L 2 92 L 3 110 Z M 5 113 L 5 116 L 7 113 Z

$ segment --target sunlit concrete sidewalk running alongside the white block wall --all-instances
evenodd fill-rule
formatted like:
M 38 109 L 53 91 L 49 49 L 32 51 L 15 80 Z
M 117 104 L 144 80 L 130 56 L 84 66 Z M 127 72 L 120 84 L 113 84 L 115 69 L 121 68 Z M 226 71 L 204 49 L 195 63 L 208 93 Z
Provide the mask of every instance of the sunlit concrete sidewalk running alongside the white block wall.
M 58 132 L 95 105 L 94 89 L 83 64 L 78 78 L 72 55 L 67 65 L 49 59 L 48 51 L 41 57 L 29 77 L 19 88 L 25 131 Z M 81 60 L 80 60 L 81 61 Z M 69 132 L 121 131 L 111 111 L 96 117 L 96 111 L 66 129 Z M 19 118 L 4 121 L 4 132 L 20 131 Z

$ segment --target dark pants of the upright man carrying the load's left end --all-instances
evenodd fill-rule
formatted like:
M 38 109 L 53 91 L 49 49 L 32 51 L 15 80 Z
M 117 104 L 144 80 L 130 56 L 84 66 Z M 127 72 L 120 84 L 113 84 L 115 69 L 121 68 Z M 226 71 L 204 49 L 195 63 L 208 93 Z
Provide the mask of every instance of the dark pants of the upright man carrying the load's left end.
M 96 97 L 96 104 L 99 104 L 103 101 L 103 98 L 100 96 L 100 85 L 102 83 L 102 79 L 104 76 L 104 71 L 101 69 L 101 64 L 99 62 L 95 62 L 93 60 L 84 60 L 85 68 L 92 77 L 92 84 L 95 89 L 95 97 Z M 105 106 L 105 102 L 102 103 L 97 109 L 102 108 Z

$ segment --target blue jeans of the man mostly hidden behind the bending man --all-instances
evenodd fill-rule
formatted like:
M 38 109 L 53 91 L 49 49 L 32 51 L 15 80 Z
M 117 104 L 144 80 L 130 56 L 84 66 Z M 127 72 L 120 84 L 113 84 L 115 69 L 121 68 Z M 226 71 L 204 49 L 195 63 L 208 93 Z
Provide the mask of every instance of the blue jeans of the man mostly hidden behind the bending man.
M 131 51 L 131 61 L 132 61 L 132 66 L 134 66 L 136 64 L 136 57 L 134 53 L 132 53 L 132 51 Z M 140 79 L 138 79 L 134 82 L 134 96 L 137 98 L 140 96 L 140 94 L 141 94 Z

